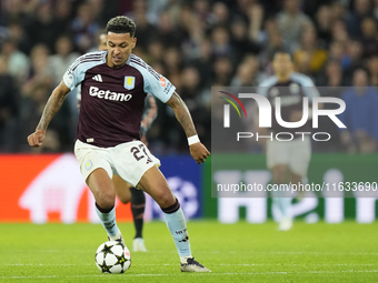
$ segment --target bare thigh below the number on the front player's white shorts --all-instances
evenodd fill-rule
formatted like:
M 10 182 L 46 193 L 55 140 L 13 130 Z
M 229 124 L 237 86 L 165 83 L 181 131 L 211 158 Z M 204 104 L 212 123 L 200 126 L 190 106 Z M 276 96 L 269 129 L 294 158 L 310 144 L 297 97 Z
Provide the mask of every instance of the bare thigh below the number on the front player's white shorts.
M 176 202 L 176 196 L 169 189 L 166 178 L 157 166 L 145 172 L 137 188 L 151 195 L 162 209 L 169 208 Z

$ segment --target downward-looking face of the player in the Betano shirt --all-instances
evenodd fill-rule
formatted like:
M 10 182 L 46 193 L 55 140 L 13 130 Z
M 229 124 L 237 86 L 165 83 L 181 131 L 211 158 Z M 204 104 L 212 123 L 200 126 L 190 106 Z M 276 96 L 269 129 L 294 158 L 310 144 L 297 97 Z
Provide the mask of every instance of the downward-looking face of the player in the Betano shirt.
M 132 49 L 136 47 L 137 39 L 131 38 L 130 33 L 108 32 L 108 60 L 111 68 L 120 68 L 126 64 Z

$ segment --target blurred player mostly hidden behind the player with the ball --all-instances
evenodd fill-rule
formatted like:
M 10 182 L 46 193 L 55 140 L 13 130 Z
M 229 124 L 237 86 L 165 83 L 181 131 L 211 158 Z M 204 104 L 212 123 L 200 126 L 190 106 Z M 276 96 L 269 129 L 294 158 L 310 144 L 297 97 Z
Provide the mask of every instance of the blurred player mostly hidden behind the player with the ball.
M 107 34 L 100 33 L 99 36 L 99 50 L 107 50 Z M 78 109 L 80 109 L 81 103 L 81 88 L 78 87 Z M 152 95 L 147 94 L 145 101 L 145 112 L 142 115 L 142 121 L 140 124 L 140 140 L 148 145 L 146 133 L 147 130 L 151 127 L 153 120 L 158 114 L 158 107 L 156 100 Z M 116 194 L 118 199 L 123 203 L 127 204 L 131 201 L 131 213 L 133 219 L 133 224 L 136 228 L 136 236 L 132 241 L 132 251 L 135 252 L 147 252 L 145 240 L 142 236 L 143 230 L 143 216 L 145 216 L 145 208 L 146 208 L 146 196 L 143 191 L 133 188 L 118 174 L 113 174 L 112 181 L 116 188 Z

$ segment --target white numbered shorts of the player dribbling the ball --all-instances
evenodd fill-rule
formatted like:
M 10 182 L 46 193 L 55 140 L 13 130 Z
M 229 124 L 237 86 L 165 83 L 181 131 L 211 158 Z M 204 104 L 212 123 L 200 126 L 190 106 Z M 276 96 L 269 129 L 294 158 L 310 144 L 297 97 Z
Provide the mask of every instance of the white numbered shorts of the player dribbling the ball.
M 141 141 L 131 141 L 113 148 L 99 148 L 80 140 L 74 143 L 74 155 L 79 162 L 84 180 L 98 168 L 113 174 L 136 186 L 141 176 L 151 166 L 160 166 L 160 160 L 153 156 Z

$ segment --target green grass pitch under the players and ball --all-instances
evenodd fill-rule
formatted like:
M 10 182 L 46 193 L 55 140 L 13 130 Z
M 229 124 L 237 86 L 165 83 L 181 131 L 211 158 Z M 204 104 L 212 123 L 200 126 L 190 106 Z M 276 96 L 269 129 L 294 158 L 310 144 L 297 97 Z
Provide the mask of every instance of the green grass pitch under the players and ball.
M 131 247 L 132 224 L 119 226 Z M 188 274 L 165 223 L 148 223 L 149 252 L 131 252 L 125 274 L 101 274 L 93 261 L 106 241 L 100 225 L 0 224 L 0 282 L 378 282 L 378 223 L 276 228 L 189 222 L 193 255 L 212 273 Z

